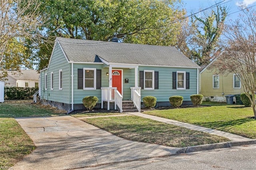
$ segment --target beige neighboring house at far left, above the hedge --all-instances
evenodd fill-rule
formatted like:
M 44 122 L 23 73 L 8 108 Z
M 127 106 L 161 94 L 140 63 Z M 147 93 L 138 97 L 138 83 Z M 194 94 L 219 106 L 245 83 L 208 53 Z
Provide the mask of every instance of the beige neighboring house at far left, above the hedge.
M 36 70 L 8 71 L 4 82 L 7 87 L 38 87 L 39 73 Z

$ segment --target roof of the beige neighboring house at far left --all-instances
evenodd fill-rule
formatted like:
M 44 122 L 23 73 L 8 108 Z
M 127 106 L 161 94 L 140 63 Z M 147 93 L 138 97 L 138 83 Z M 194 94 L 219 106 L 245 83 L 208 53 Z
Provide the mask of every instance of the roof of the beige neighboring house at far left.
M 8 75 L 16 80 L 38 80 L 39 73 L 36 70 L 8 71 Z

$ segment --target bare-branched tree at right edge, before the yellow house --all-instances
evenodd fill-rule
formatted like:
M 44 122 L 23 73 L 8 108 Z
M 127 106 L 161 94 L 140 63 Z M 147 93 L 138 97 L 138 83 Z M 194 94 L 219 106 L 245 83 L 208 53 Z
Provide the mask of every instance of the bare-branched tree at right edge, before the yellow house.
M 213 66 L 218 67 L 220 73 L 233 72 L 240 77 L 256 117 L 256 10 L 245 9 L 240 18 L 227 26 L 228 43 Z M 250 93 L 253 94 L 252 97 Z

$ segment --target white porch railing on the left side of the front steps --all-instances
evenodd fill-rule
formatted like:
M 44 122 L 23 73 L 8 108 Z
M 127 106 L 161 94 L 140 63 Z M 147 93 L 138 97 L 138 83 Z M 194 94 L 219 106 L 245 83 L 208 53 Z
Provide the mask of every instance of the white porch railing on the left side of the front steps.
M 110 109 L 110 102 L 114 102 L 119 107 L 120 112 L 122 113 L 122 95 L 119 93 L 116 87 L 101 87 L 101 109 L 103 109 L 103 102 L 108 102 L 108 110 Z

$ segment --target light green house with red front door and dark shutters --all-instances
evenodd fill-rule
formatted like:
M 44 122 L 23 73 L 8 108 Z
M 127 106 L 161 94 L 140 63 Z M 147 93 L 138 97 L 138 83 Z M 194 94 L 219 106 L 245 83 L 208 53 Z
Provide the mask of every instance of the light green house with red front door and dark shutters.
M 154 96 L 158 107 L 169 97 L 198 94 L 199 66 L 175 47 L 56 38 L 48 67 L 40 71 L 40 99 L 73 111 L 82 99 L 96 96 L 96 107 L 140 111 L 142 98 Z

